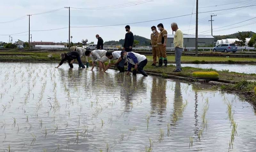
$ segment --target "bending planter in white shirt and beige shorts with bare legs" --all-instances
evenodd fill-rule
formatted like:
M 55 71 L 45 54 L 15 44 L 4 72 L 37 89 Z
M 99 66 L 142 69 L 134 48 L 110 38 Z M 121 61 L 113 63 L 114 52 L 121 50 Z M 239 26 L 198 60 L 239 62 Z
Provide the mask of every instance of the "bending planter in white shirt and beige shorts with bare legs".
M 92 69 L 94 68 L 94 65 L 96 62 L 99 61 L 99 68 L 100 71 L 103 69 L 105 69 L 105 65 L 104 63 L 108 60 L 108 58 L 106 57 L 106 50 L 93 50 L 92 52 L 89 50 L 85 51 L 85 55 L 88 57 L 92 58 Z

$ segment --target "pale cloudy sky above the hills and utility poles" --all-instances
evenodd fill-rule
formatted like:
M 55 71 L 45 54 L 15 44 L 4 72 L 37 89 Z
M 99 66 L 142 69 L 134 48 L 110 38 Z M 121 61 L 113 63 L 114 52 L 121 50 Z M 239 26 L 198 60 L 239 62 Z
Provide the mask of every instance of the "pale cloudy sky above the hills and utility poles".
M 176 22 L 184 34 L 195 34 L 196 15 L 192 13 L 196 12 L 196 0 L 3 1 L 0 10 L 0 41 L 3 42 L 9 42 L 9 35 L 12 36 L 13 42 L 18 39 L 28 41 L 27 14 L 32 14 L 30 16 L 32 41 L 67 42 L 68 9 L 64 7 L 68 6 L 71 7 L 70 35 L 73 36 L 74 43 L 81 42 L 82 39 L 96 43 L 96 34 L 99 34 L 104 41 L 124 39 L 126 33 L 124 27 L 129 23 L 134 35 L 146 38 L 150 38 L 151 26 L 157 26 L 159 23 L 164 24 L 168 34 L 172 34 L 172 22 Z M 254 18 L 256 6 L 243 7 L 249 5 L 256 5 L 256 0 L 199 0 L 199 34 L 211 35 L 211 22 L 208 20 L 213 14 L 217 15 L 212 18 L 213 35 L 232 34 L 237 31 L 256 32 L 256 18 Z M 236 7 L 242 8 L 229 10 Z M 113 26 L 116 24 L 117 26 Z

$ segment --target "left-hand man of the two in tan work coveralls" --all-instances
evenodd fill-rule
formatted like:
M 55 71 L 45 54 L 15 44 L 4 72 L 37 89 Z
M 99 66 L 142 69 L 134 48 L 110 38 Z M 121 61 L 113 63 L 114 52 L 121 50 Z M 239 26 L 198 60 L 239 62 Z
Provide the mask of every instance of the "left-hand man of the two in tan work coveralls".
M 152 46 L 152 55 L 153 55 L 153 64 L 152 66 L 156 66 L 156 57 L 158 57 L 159 60 L 159 49 L 157 46 L 157 37 L 159 33 L 156 30 L 155 26 L 151 27 L 151 30 L 153 33 L 151 33 L 151 46 Z

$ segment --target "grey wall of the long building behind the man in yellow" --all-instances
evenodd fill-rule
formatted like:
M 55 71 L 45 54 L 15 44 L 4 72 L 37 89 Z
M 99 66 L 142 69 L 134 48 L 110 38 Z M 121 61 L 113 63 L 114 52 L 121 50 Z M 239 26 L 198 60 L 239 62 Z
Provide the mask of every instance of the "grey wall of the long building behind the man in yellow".
M 195 47 L 196 38 L 184 38 L 183 47 Z M 198 38 L 198 46 L 214 45 L 214 38 Z M 174 47 L 173 38 L 167 39 L 167 47 Z

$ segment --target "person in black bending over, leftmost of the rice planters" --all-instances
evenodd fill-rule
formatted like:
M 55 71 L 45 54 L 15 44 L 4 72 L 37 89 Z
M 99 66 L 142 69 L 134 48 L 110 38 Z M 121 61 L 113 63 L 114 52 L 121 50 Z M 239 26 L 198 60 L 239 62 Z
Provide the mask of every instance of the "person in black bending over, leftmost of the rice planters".
M 81 66 L 82 68 L 85 68 L 84 64 L 81 61 L 79 53 L 76 52 L 76 51 L 71 51 L 71 52 L 68 52 L 68 53 L 61 53 L 60 54 L 60 59 L 61 59 L 61 61 L 60 61 L 59 65 L 55 68 L 59 68 L 63 64 L 64 61 L 68 61 L 68 65 L 69 65 L 70 68 L 74 68 L 73 67 L 73 61 L 75 59 L 78 61 L 79 66 Z

